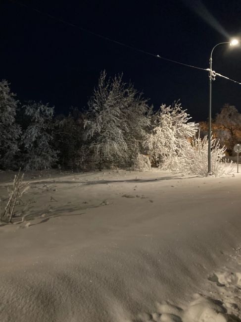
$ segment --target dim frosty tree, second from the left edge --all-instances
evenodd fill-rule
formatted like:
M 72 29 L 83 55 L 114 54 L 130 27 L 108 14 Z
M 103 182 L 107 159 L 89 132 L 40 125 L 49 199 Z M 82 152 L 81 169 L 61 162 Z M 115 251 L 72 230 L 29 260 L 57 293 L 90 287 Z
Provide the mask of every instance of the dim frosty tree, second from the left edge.
M 57 160 L 57 152 L 51 144 L 53 107 L 29 102 L 22 110 L 27 124 L 22 135 L 22 167 L 26 170 L 49 168 Z

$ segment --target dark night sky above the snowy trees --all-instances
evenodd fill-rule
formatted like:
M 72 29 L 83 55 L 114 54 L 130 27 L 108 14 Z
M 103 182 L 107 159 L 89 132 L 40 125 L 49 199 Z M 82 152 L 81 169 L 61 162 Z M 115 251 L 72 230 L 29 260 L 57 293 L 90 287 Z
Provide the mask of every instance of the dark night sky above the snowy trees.
M 57 113 L 85 107 L 99 73 L 123 72 L 157 109 L 180 99 L 195 121 L 208 114 L 208 73 L 149 56 L 49 18 L 187 64 L 208 68 L 211 49 L 241 36 L 240 0 L 0 1 L 0 79 L 21 101 L 42 100 Z M 206 9 L 205 9 L 206 8 Z M 205 11 L 206 10 L 206 11 Z M 202 15 L 202 16 L 201 16 Z M 213 69 L 241 81 L 241 48 L 217 47 Z M 213 116 L 225 104 L 241 112 L 241 85 L 213 82 Z

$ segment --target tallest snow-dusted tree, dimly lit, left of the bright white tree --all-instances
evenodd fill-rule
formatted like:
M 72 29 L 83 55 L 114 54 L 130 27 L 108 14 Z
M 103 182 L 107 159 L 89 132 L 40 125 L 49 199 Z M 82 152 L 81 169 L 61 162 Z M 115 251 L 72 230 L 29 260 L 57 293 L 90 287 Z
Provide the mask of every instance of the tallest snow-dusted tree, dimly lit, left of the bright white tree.
M 103 71 L 88 107 L 85 138 L 93 160 L 99 168 L 131 165 L 149 124 L 146 101 L 122 75 L 107 79 Z

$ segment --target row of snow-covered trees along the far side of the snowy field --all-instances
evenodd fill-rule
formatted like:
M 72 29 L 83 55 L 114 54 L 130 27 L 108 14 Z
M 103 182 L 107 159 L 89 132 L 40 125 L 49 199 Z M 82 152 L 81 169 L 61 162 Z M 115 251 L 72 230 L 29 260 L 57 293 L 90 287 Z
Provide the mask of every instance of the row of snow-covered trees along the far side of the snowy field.
M 226 112 L 235 125 L 224 125 Z M 235 107 L 217 115 L 222 142 L 234 143 L 237 133 Z M 166 166 L 193 149 L 190 138 L 198 124 L 179 102 L 153 111 L 148 100 L 122 75 L 100 74 L 85 110 L 72 108 L 67 116 L 55 115 L 42 102 L 22 104 L 6 80 L 0 82 L 0 169 L 41 170 L 50 167 L 73 170 Z M 205 132 L 205 122 L 201 131 Z M 230 127 L 231 126 L 231 127 Z M 224 135 L 223 131 L 229 131 Z M 216 132 L 215 132 L 216 133 Z M 216 135 L 216 134 L 215 134 Z M 233 141 L 232 141 L 233 140 Z

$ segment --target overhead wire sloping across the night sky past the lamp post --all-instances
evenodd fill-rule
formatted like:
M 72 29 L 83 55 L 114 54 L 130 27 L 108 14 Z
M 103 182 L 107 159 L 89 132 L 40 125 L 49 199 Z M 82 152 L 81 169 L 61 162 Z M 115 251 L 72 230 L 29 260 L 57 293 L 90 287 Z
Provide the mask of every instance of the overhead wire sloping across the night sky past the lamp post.
M 119 41 L 117 41 L 117 40 L 111 39 L 111 38 L 109 38 L 109 37 L 106 37 L 106 36 L 103 36 L 103 35 L 97 34 L 97 33 L 96 33 L 96 32 L 94 32 L 94 31 L 91 31 L 91 30 L 88 30 L 88 29 L 86 29 L 86 28 L 83 28 L 83 27 L 77 26 L 77 25 L 75 25 L 75 24 L 73 24 L 73 23 L 71 23 L 71 22 L 68 22 L 68 21 L 63 20 L 63 19 L 58 18 L 58 17 L 55 17 L 55 16 L 53 16 L 53 15 L 49 14 L 48 12 L 44 12 L 44 11 L 39 10 L 39 9 L 36 9 L 36 8 L 34 8 L 34 7 L 32 7 L 32 6 L 28 6 L 27 4 L 22 3 L 22 2 L 20 2 L 20 1 L 18 1 L 18 0 L 10 0 L 10 1 L 11 1 L 11 2 L 15 2 L 15 3 L 17 3 L 17 4 L 21 5 L 21 6 L 26 7 L 26 8 L 30 8 L 31 10 L 36 11 L 36 12 L 38 12 L 38 13 L 40 13 L 40 14 L 46 15 L 46 16 L 48 16 L 49 18 L 51 18 L 51 19 L 53 19 L 53 20 L 55 20 L 55 21 L 59 21 L 59 22 L 61 22 L 61 23 L 64 23 L 64 24 L 66 24 L 66 25 L 69 25 L 69 26 L 71 26 L 71 27 L 73 27 L 73 28 L 78 28 L 78 29 L 79 29 L 79 30 L 81 30 L 81 31 L 87 32 L 87 33 L 89 33 L 89 34 L 91 34 L 91 35 L 93 35 L 93 36 L 96 36 L 96 37 L 99 37 L 99 38 L 105 39 L 105 40 L 107 40 L 107 41 L 109 41 L 109 42 L 112 42 L 112 43 L 118 44 L 118 45 L 120 45 L 120 46 L 127 47 L 127 48 L 130 48 L 130 49 L 135 50 L 135 51 L 137 51 L 137 52 L 140 52 L 140 53 L 143 53 L 143 54 L 146 54 L 146 55 L 150 55 L 150 56 L 153 56 L 153 57 L 155 57 L 155 58 L 159 58 L 159 59 L 163 59 L 163 60 L 166 60 L 166 61 L 170 61 L 170 62 L 173 62 L 173 63 L 179 64 L 179 65 L 183 65 L 183 66 L 186 66 L 186 67 L 190 67 L 190 68 L 194 68 L 194 69 L 199 69 L 199 70 L 204 70 L 204 71 L 208 71 L 208 72 L 210 72 L 210 69 L 209 69 L 209 68 L 201 68 L 201 67 L 198 67 L 198 66 L 194 66 L 194 65 L 190 65 L 190 64 L 183 63 L 183 62 L 181 62 L 181 61 L 177 61 L 177 60 L 173 60 L 173 59 L 170 59 L 170 58 L 166 58 L 166 57 L 160 56 L 159 54 L 152 54 L 152 53 L 146 52 L 146 51 L 144 51 L 144 50 L 142 50 L 142 49 L 136 48 L 136 47 L 134 47 L 134 46 L 127 45 L 127 44 L 121 43 L 121 42 L 119 42 Z M 212 70 L 211 72 L 212 72 L 212 74 L 215 74 L 216 76 L 223 77 L 223 78 L 225 78 L 225 79 L 227 79 L 227 80 L 230 80 L 230 81 L 232 81 L 232 82 L 234 82 L 234 83 L 236 83 L 236 84 L 241 85 L 241 82 L 238 82 L 238 81 L 233 80 L 233 79 L 231 79 L 231 78 L 229 78 L 229 77 L 227 77 L 227 76 L 224 76 L 224 75 L 221 75 L 221 74 L 219 74 L 219 73 L 216 73 L 216 72 L 215 72 L 215 71 L 213 71 L 213 70 Z

